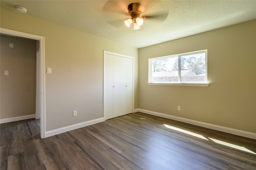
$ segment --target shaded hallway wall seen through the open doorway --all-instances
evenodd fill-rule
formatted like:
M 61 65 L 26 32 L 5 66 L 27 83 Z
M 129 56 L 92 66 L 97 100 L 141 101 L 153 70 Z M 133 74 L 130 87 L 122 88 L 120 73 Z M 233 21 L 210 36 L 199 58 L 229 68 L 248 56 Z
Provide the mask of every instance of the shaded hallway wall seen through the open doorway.
M 35 114 L 36 41 L 1 35 L 0 119 Z M 9 47 L 14 44 L 14 48 Z M 4 70 L 9 75 L 4 75 Z

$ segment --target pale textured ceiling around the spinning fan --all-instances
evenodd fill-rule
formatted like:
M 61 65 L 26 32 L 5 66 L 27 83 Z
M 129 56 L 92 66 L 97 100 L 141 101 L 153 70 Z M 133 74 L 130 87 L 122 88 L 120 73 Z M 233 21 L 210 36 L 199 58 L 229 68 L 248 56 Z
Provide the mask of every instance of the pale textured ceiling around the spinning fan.
M 165 21 L 146 18 L 134 32 L 124 25 L 128 4 L 141 3 L 142 15 L 168 14 Z M 36 18 L 72 27 L 132 47 L 146 47 L 196 33 L 256 19 L 256 0 L 250 1 L 101 1 L 101 0 L 1 0 L 1 8 L 28 9 Z

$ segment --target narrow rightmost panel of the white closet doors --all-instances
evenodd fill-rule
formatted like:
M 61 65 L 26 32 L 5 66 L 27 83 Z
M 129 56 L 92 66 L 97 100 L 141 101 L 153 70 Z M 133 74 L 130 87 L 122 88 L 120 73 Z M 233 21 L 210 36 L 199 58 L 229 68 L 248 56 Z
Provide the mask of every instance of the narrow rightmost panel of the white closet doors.
M 126 114 L 132 113 L 133 61 L 126 58 Z

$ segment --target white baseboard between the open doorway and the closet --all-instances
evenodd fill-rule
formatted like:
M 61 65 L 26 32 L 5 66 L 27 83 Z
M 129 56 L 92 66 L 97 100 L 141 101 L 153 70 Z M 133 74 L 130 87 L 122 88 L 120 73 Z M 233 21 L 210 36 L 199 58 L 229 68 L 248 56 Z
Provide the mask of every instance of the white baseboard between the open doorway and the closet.
M 82 122 L 82 123 L 77 123 L 75 125 L 61 127 L 59 129 L 54 129 L 54 130 L 51 130 L 51 131 L 46 131 L 45 132 L 45 137 L 50 137 L 50 136 L 53 136 L 53 135 L 58 135 L 60 133 L 64 133 L 64 132 L 67 132 L 67 131 L 72 131 L 74 129 L 78 129 L 78 128 L 81 128 L 81 127 L 93 125 L 95 123 L 100 123 L 102 121 L 104 121 L 103 117 L 98 118 L 98 119 L 94 119 L 94 120 L 90 120 L 90 121 L 85 121 L 85 122 Z

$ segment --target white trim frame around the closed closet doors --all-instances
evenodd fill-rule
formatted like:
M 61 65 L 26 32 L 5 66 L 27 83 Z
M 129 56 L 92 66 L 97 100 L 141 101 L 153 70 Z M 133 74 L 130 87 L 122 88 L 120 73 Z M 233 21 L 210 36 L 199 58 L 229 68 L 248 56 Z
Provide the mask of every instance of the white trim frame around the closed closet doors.
M 103 51 L 103 63 L 104 63 L 104 65 L 103 65 L 103 118 L 104 118 L 104 121 L 106 120 L 106 112 L 105 112 L 105 108 L 106 108 L 106 106 L 105 106 L 105 100 L 106 100 L 106 96 L 105 96 L 105 91 L 106 91 L 105 90 L 105 81 L 106 81 L 105 80 L 105 68 L 106 68 L 105 57 L 106 57 L 106 54 L 132 59 L 132 112 L 134 112 L 134 57 L 104 50 Z

